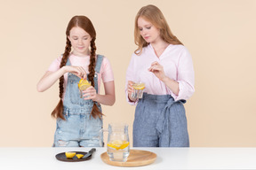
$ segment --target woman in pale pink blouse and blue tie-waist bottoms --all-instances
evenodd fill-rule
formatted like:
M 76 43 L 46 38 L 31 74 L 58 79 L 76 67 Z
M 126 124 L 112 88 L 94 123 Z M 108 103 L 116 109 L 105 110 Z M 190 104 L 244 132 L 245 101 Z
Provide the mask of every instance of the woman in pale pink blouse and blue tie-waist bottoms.
M 136 105 L 134 147 L 188 147 L 184 105 L 194 89 L 194 68 L 188 50 L 172 35 L 163 13 L 152 4 L 135 18 L 138 49 L 126 72 L 126 98 Z M 145 83 L 143 97 L 132 97 L 134 81 Z

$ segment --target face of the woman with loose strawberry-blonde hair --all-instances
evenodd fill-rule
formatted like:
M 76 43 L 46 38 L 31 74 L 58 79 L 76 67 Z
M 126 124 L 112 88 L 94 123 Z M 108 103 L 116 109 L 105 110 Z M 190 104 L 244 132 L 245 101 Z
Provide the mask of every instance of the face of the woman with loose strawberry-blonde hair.
M 156 28 L 151 22 L 139 17 L 138 28 L 140 35 L 146 42 L 154 43 L 157 42 L 160 37 L 160 29 Z

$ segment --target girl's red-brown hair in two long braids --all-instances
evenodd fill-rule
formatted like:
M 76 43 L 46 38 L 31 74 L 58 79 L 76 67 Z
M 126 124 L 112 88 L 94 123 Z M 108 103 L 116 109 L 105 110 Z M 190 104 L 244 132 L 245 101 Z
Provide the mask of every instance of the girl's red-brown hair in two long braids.
M 84 29 L 84 31 L 86 31 L 89 35 L 91 35 L 92 37 L 92 41 L 91 41 L 91 54 L 90 54 L 90 65 L 89 65 L 89 74 L 88 74 L 88 79 L 89 81 L 92 82 L 92 86 L 94 87 L 94 74 L 95 74 L 95 63 L 96 63 L 96 45 L 95 45 L 95 40 L 96 40 L 96 31 L 92 25 L 92 22 L 90 19 L 88 19 L 85 16 L 75 16 L 73 17 L 69 23 L 68 23 L 68 27 L 66 29 L 66 35 L 67 35 L 67 41 L 66 41 L 66 47 L 65 47 L 65 52 L 63 54 L 63 57 L 61 59 L 60 62 L 60 68 L 62 66 L 66 66 L 67 61 L 68 61 L 68 57 L 71 51 L 71 42 L 68 39 L 69 36 L 69 32 L 73 27 L 81 27 Z M 54 118 L 60 118 L 61 120 L 65 120 L 64 116 L 63 116 L 63 101 L 62 101 L 62 97 L 63 97 L 63 91 L 64 91 L 64 75 L 62 75 L 60 77 L 60 82 L 59 82 L 59 88 L 60 88 L 60 102 L 59 104 L 57 104 L 57 106 L 55 107 L 55 109 L 52 111 L 52 117 Z M 99 117 L 101 119 L 102 116 L 102 112 L 100 112 L 100 109 L 98 108 L 96 102 L 93 102 L 93 106 L 92 106 L 92 112 L 90 117 L 92 116 L 94 119 L 96 119 L 97 117 Z

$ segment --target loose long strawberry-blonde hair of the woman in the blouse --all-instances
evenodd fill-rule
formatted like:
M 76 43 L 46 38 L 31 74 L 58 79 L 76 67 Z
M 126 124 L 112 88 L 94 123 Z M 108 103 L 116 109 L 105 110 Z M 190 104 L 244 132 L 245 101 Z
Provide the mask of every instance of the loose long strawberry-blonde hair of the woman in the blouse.
M 148 42 L 146 42 L 140 35 L 140 29 L 138 27 L 138 19 L 140 17 L 151 22 L 156 28 L 160 29 L 160 36 L 165 42 L 171 44 L 182 44 L 182 42 L 172 34 L 172 31 L 159 8 L 153 4 L 148 4 L 147 6 L 140 8 L 140 11 L 135 17 L 134 42 L 138 45 L 138 49 L 134 51 L 135 54 L 140 55 L 142 48 L 148 46 Z

